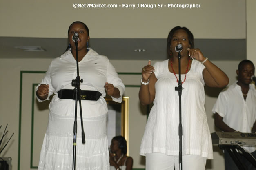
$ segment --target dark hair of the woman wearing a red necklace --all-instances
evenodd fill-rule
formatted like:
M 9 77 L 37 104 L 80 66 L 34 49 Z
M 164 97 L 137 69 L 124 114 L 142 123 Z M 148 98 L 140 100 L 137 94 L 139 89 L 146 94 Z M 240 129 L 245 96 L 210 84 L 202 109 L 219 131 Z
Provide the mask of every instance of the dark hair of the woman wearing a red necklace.
M 171 54 L 171 49 L 170 49 L 170 45 L 171 45 L 171 38 L 174 36 L 174 33 L 178 30 L 184 30 L 187 32 L 188 38 L 189 38 L 189 44 L 191 46 L 191 48 L 194 48 L 194 36 L 191 33 L 191 31 L 189 31 L 189 29 L 187 29 L 187 27 L 181 27 L 181 26 L 176 26 L 173 29 L 171 29 L 171 31 L 169 32 L 169 35 L 167 37 L 167 55 L 170 56 Z

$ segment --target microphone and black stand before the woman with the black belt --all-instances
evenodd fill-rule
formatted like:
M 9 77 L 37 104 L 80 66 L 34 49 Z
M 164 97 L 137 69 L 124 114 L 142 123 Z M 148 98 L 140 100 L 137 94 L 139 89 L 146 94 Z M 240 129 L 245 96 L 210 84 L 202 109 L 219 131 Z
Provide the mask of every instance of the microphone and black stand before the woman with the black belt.
M 73 79 L 71 84 L 75 87 L 75 97 L 76 97 L 76 103 L 75 103 L 75 121 L 74 121 L 74 136 L 73 136 L 73 165 L 72 170 L 76 169 L 76 134 L 77 134 L 77 102 L 79 100 L 79 107 L 80 107 L 80 119 L 81 119 L 81 129 L 82 129 L 82 143 L 85 144 L 85 132 L 84 132 L 84 125 L 83 125 L 83 119 L 82 119 L 82 105 L 81 105 L 81 96 L 80 96 L 80 84 L 83 82 L 82 79 L 80 79 L 79 76 L 79 67 L 78 67 L 78 40 L 75 39 L 75 46 L 76 46 L 76 68 L 77 68 L 77 76 L 76 79 Z

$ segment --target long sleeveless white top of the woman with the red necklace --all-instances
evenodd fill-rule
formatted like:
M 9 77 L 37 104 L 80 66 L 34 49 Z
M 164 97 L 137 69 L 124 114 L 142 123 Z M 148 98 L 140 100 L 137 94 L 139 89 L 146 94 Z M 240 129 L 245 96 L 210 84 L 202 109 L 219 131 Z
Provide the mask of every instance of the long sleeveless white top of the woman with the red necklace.
M 156 62 L 155 84 L 156 96 L 144 136 L 140 154 L 163 153 L 177 156 L 179 154 L 179 97 L 175 87 L 176 77 L 168 69 L 168 60 Z M 182 153 L 183 155 L 201 155 L 213 159 L 211 134 L 205 113 L 205 92 L 203 69 L 205 66 L 193 60 L 182 84 Z M 177 74 L 178 77 L 178 74 Z M 181 75 L 182 82 L 185 74 Z

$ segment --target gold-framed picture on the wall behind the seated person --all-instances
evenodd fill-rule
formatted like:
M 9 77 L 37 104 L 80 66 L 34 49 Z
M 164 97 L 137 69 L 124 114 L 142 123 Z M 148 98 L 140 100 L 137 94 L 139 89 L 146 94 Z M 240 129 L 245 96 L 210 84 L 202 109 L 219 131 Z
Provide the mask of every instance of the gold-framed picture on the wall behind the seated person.
M 109 147 L 111 139 L 123 136 L 127 141 L 127 155 L 129 155 L 129 97 L 123 97 L 121 103 L 105 98 L 108 106 L 107 113 L 107 138 Z

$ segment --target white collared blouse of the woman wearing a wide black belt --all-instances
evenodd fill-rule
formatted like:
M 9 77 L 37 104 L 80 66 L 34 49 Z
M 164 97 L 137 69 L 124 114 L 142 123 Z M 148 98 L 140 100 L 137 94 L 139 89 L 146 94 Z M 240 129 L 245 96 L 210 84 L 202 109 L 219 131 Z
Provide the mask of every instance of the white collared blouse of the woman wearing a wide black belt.
M 122 94 L 125 86 L 118 78 L 115 68 L 109 62 L 108 58 L 99 55 L 92 49 L 88 51 L 85 57 L 78 63 L 79 75 L 83 79 L 80 85 L 81 90 L 99 91 L 102 96 L 98 101 L 82 100 L 83 117 L 96 117 L 107 113 L 107 104 L 103 97 L 105 93 L 105 82 L 111 83 L 118 88 L 121 97 L 118 99 L 112 97 L 116 102 L 122 102 Z M 70 50 L 66 51 L 60 57 L 54 59 L 40 84 L 49 84 L 49 97 L 54 93 L 50 103 L 50 111 L 62 116 L 73 115 L 75 101 L 71 99 L 59 99 L 58 91 L 61 89 L 74 89 L 71 81 L 77 76 L 76 60 Z M 40 86 L 40 84 L 38 86 Z M 36 88 L 37 91 L 38 87 Z M 38 101 L 41 101 L 38 99 Z M 78 105 L 79 106 L 79 105 Z M 104 106 L 104 107 L 102 107 Z M 80 110 L 78 109 L 80 115 Z

